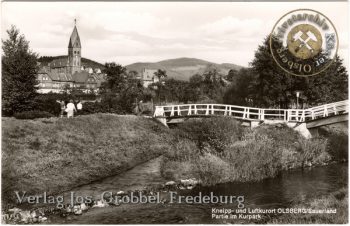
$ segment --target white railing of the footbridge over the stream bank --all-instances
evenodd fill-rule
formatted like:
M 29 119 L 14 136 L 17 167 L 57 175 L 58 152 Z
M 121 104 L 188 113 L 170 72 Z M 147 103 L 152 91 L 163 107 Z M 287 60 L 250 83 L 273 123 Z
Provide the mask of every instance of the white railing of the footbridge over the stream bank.
M 305 122 L 337 114 L 348 113 L 348 100 L 308 109 L 252 108 L 223 104 L 182 104 L 156 106 L 154 117 L 182 118 L 195 116 L 227 115 L 244 120 L 283 120 Z

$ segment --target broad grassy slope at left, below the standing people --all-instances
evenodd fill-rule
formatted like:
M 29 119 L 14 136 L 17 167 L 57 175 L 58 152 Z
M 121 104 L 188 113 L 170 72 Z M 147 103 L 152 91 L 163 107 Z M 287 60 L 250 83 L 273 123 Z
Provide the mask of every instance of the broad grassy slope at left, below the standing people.
M 169 148 L 168 129 L 136 116 L 2 119 L 2 197 L 56 194 L 115 175 Z

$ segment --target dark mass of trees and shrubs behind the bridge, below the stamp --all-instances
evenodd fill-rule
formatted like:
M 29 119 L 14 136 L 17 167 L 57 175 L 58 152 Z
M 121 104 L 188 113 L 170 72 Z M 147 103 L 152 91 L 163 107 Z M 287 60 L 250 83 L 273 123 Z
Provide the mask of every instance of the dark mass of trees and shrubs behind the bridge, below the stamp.
M 273 60 L 269 38 L 255 52 L 251 67 L 230 71 L 231 87 L 225 93 L 228 104 L 256 107 L 290 108 L 295 106 L 296 91 L 300 107 L 345 100 L 348 97 L 348 73 L 336 56 L 333 64 L 320 74 L 297 77 L 284 72 Z

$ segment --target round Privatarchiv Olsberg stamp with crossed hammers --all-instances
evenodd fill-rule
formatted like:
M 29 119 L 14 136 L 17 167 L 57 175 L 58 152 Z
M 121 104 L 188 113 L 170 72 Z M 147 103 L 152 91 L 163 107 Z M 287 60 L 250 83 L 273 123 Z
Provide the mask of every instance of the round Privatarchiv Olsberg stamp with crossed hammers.
M 326 70 L 337 55 L 339 39 L 333 23 L 312 9 L 283 15 L 270 34 L 277 65 L 289 74 L 311 76 Z

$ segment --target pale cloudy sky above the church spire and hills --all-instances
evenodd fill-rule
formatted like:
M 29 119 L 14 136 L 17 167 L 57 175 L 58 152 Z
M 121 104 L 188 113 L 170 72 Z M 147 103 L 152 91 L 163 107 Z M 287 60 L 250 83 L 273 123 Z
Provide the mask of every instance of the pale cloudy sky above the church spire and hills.
M 248 66 L 285 13 L 326 15 L 348 63 L 347 2 L 2 2 L 1 38 L 14 24 L 40 56 L 67 55 L 77 19 L 82 56 L 100 63 L 193 57 Z M 347 65 L 346 63 L 346 65 Z

